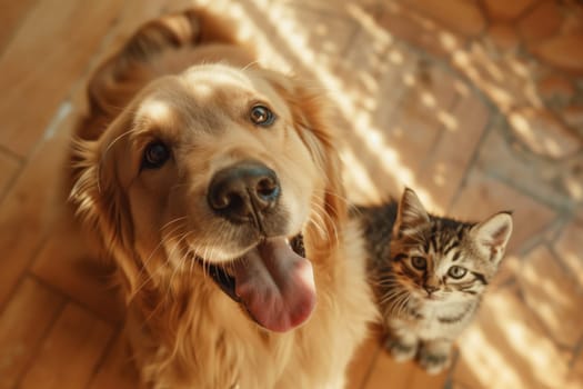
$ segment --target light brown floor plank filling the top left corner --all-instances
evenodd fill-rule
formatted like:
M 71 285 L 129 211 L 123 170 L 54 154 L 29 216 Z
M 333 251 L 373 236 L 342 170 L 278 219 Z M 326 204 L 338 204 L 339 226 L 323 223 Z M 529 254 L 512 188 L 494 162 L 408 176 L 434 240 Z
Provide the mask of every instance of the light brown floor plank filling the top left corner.
M 41 0 L 29 12 L 0 58 L 0 144 L 22 157 L 30 152 L 121 3 Z

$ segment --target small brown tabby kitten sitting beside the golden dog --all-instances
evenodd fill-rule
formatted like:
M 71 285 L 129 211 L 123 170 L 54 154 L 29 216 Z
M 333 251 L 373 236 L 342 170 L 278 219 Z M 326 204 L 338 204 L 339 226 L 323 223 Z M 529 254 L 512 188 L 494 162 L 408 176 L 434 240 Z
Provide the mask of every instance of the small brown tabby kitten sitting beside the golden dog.
M 370 275 L 399 361 L 418 358 L 430 373 L 449 367 L 452 345 L 471 322 L 512 232 L 509 212 L 481 223 L 429 215 L 415 192 L 361 207 Z

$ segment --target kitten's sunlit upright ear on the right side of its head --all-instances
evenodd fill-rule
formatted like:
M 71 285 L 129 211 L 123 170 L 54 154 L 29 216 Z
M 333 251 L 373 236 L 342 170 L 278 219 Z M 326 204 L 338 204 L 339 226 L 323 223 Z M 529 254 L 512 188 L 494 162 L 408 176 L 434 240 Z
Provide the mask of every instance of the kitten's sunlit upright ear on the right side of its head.
M 478 249 L 494 263 L 497 263 L 504 256 L 511 233 L 512 216 L 510 212 L 495 213 L 475 225 L 471 230 Z

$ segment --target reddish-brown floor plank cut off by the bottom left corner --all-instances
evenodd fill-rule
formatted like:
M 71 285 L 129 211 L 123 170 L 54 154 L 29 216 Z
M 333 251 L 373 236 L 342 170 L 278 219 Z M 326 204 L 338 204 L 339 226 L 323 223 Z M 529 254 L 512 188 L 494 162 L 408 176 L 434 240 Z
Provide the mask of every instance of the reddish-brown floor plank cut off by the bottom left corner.
M 13 388 L 59 315 L 61 296 L 26 278 L 0 315 L 0 388 Z

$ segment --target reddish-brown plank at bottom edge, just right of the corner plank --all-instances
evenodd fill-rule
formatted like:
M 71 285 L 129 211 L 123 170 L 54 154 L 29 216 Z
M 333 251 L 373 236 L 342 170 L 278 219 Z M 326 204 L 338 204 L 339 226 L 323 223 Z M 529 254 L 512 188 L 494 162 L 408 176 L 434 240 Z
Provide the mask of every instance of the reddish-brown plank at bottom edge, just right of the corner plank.
M 24 373 L 20 388 L 84 388 L 112 336 L 111 326 L 79 306 L 67 305 Z

